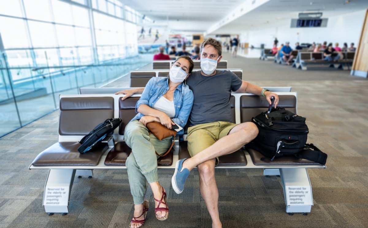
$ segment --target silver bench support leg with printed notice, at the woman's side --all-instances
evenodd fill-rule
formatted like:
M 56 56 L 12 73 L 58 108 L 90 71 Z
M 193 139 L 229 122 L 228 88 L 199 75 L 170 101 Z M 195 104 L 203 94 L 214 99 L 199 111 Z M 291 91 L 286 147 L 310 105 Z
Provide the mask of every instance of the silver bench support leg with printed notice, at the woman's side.
M 43 192 L 46 213 L 68 213 L 74 176 L 73 169 L 50 169 Z

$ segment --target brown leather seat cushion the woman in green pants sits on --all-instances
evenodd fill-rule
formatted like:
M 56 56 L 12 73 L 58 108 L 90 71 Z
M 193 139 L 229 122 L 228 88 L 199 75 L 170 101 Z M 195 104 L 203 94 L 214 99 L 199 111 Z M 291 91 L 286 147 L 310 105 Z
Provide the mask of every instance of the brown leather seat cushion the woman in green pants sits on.
M 105 165 L 125 165 L 131 151 L 132 149 L 125 142 L 117 142 L 107 154 Z M 157 160 L 158 166 L 170 166 L 171 164 L 173 164 L 173 152 Z

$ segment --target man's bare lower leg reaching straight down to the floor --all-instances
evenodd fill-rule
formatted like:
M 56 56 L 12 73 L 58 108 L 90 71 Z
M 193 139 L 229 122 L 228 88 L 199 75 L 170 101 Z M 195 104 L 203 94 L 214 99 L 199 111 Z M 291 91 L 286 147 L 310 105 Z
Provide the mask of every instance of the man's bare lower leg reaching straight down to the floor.
M 215 179 L 216 158 L 198 165 L 199 189 L 212 219 L 212 228 L 222 227 L 219 215 L 219 190 Z

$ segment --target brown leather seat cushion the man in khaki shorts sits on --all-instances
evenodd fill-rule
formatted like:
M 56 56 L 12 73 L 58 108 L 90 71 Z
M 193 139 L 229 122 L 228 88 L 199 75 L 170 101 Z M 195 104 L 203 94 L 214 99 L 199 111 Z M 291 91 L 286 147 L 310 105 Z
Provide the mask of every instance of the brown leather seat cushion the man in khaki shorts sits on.
M 188 142 L 180 142 L 179 143 L 179 159 L 190 158 L 190 154 L 188 152 Z M 247 165 L 247 158 L 243 150 L 237 150 L 234 153 L 226 154 L 219 157 L 219 164 L 221 165 Z

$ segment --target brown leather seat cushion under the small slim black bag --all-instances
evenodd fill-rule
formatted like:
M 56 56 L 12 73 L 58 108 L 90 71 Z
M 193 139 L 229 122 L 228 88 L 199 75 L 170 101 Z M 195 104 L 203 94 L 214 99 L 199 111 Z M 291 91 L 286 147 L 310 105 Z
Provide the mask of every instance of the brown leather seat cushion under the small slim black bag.
M 34 166 L 48 165 L 91 165 L 96 166 L 103 153 L 109 148 L 107 143 L 100 143 L 86 153 L 79 153 L 78 142 L 58 142 L 41 152 L 35 160 Z

